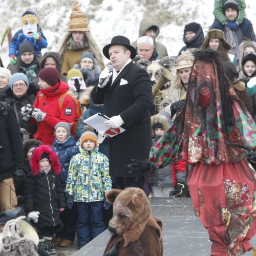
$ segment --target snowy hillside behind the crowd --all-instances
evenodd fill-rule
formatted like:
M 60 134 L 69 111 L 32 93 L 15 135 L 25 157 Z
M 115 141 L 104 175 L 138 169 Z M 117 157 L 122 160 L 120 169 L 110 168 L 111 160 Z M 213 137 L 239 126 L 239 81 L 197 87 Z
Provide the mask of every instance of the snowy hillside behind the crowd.
M 38 14 L 40 27 L 47 37 L 47 51 L 58 51 L 68 30 L 73 3 L 70 0 L 2 0 L 0 40 L 8 26 L 14 34 L 20 28 L 20 16 L 32 10 Z M 101 49 L 118 34 L 136 40 L 143 15 L 155 15 L 161 24 L 157 40 L 166 46 L 169 55 L 177 55 L 184 45 L 182 37 L 186 23 L 200 23 L 207 31 L 214 19 L 214 0 L 78 0 L 78 3 L 87 14 L 89 27 Z M 246 15 L 256 30 L 256 1 L 246 0 L 246 5 Z M 0 56 L 7 66 L 7 39 L 0 48 Z

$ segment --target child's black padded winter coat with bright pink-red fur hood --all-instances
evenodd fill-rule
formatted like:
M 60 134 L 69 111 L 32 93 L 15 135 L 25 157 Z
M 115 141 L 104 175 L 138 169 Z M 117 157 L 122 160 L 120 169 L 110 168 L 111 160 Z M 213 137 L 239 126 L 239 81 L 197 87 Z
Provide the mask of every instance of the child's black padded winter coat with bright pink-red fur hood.
M 48 174 L 40 172 L 39 161 L 42 153 L 49 154 L 51 170 Z M 35 148 L 31 156 L 31 170 L 25 180 L 25 210 L 39 211 L 38 226 L 54 227 L 53 232 L 62 229 L 59 218 L 60 207 L 66 207 L 65 197 L 59 180 L 61 164 L 50 146 L 41 145 Z

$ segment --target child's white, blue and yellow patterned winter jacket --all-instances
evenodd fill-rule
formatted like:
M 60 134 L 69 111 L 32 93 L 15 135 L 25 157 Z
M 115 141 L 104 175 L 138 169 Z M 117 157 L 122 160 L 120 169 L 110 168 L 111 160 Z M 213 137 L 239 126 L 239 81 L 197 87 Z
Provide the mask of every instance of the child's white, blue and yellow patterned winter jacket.
M 104 201 L 105 193 L 112 189 L 109 176 L 109 160 L 95 147 L 86 151 L 77 142 L 80 153 L 70 161 L 66 192 L 74 202 Z

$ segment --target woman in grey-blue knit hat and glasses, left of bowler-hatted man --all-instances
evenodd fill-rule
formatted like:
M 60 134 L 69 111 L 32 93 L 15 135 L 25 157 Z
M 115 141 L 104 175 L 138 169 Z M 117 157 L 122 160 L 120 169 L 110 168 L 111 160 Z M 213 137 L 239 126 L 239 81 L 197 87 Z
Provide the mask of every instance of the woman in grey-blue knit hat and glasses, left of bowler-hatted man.
M 95 64 L 95 55 L 93 53 L 83 52 L 80 57 L 80 63 L 75 64 L 73 69 L 81 71 L 87 87 L 98 85 L 101 69 Z

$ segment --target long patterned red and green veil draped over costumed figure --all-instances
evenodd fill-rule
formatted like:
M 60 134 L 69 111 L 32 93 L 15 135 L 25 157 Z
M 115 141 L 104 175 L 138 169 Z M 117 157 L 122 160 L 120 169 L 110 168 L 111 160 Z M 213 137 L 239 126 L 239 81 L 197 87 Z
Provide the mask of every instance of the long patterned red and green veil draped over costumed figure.
M 224 75 L 220 54 L 199 50 L 195 57 L 181 116 L 152 147 L 157 169 L 179 159 L 237 162 L 256 147 L 255 123 Z

